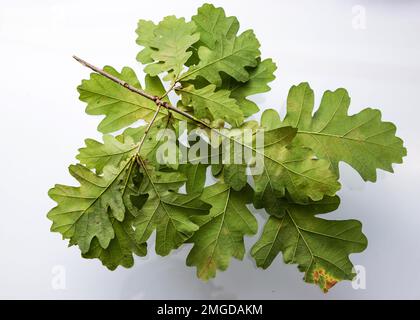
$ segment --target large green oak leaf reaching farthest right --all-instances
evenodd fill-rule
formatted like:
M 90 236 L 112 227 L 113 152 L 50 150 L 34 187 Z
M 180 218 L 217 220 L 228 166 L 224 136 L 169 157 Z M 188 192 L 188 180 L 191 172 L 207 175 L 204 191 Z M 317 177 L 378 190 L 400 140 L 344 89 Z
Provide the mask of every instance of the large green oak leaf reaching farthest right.
M 298 143 L 330 161 L 337 175 L 338 163 L 344 161 L 364 180 L 375 181 L 376 169 L 393 172 L 392 164 L 402 162 L 406 149 L 395 136 L 395 125 L 382 122 L 379 110 L 367 108 L 349 116 L 349 105 L 345 89 L 326 91 L 312 116 L 314 94 L 307 83 L 301 83 L 290 89 L 281 125 L 297 127 Z

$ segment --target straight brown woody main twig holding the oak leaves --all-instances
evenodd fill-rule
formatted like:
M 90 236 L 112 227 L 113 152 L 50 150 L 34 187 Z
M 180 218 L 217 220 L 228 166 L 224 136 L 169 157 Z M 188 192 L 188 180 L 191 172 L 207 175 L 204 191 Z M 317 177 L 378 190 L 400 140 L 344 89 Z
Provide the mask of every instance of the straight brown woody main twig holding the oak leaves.
M 108 78 L 111 81 L 114 81 L 115 83 L 119 84 L 120 86 L 122 86 L 122 87 L 124 87 L 128 90 L 130 90 L 131 92 L 139 94 L 146 99 L 152 100 L 156 104 L 157 107 L 162 106 L 165 109 L 176 112 L 176 113 L 182 115 L 183 117 L 185 117 L 185 118 L 187 118 L 191 121 L 194 121 L 194 122 L 208 128 L 208 129 L 212 129 L 212 127 L 210 125 L 208 125 L 207 123 L 205 123 L 204 121 L 201 121 L 200 119 L 195 118 L 194 116 L 190 115 L 189 113 L 172 106 L 170 103 L 168 103 L 166 101 L 162 101 L 161 98 L 159 98 L 157 96 L 154 96 L 154 95 L 151 95 L 144 90 L 133 87 L 129 83 L 127 83 L 127 82 L 109 74 L 108 72 L 106 72 L 106 71 L 104 71 L 104 70 L 102 70 L 98 67 L 95 67 L 94 65 L 90 64 L 89 62 L 87 62 L 83 59 L 80 59 L 77 56 L 73 56 L 73 58 L 76 61 L 78 61 L 79 63 L 81 63 L 82 65 L 84 65 L 85 67 L 91 69 L 92 71 L 95 71 L 96 73 L 99 73 L 100 75 L 104 76 L 105 78 Z

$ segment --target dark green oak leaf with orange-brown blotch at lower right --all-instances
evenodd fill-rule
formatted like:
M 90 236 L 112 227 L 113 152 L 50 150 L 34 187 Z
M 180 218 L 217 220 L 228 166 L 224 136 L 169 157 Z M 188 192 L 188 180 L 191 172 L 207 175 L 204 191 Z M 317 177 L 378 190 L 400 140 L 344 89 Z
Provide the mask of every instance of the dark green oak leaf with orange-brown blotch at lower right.
M 352 280 L 355 274 L 349 255 L 367 246 L 356 220 L 325 220 L 315 215 L 335 210 L 338 197 L 326 197 L 306 205 L 283 200 L 282 216 L 271 216 L 263 233 L 252 248 L 257 266 L 268 268 L 282 252 L 286 263 L 298 265 L 306 282 L 315 283 L 324 292 L 341 280 Z

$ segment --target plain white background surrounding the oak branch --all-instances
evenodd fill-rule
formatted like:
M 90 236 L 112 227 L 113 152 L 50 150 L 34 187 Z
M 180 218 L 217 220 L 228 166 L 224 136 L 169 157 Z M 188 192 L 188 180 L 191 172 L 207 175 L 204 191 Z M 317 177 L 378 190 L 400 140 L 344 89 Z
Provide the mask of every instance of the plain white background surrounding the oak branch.
M 187 248 L 110 272 L 49 232 L 48 189 L 72 184 L 67 165 L 83 139 L 100 138 L 100 118 L 84 114 L 76 91 L 89 72 L 71 55 L 141 73 L 137 20 L 190 17 L 201 3 L 1 0 L 0 297 L 420 298 L 420 2 L 414 0 L 214 1 L 239 18 L 242 30 L 253 28 L 263 56 L 278 64 L 273 90 L 256 99 L 261 108 L 284 109 L 288 88 L 309 81 L 317 102 L 324 90 L 342 86 L 352 97 L 351 112 L 380 108 L 397 125 L 408 148 L 404 165 L 394 175 L 380 172 L 375 184 L 342 165 L 342 206 L 330 215 L 363 222 L 369 246 L 352 260 L 366 268 L 366 290 L 346 282 L 324 295 L 281 257 L 267 271 L 249 257 L 235 260 L 203 283 L 185 266 Z M 366 10 L 365 29 L 354 28 L 355 5 Z M 248 238 L 247 247 L 256 239 Z M 59 270 L 65 290 L 54 289 Z

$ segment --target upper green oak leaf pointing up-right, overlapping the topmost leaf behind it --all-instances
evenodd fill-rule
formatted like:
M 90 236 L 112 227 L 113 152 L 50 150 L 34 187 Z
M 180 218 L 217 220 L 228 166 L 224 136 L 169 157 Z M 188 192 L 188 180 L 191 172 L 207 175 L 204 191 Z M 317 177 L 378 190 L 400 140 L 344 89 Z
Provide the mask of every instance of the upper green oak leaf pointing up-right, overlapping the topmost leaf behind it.
M 222 38 L 216 42 L 214 49 L 201 46 L 198 49 L 200 62 L 181 75 L 179 81 L 194 80 L 201 76 L 220 87 L 220 72 L 240 82 L 248 81 L 249 72 L 246 68 L 258 64 L 259 47 L 260 44 L 252 30 L 247 30 L 238 37 Z

